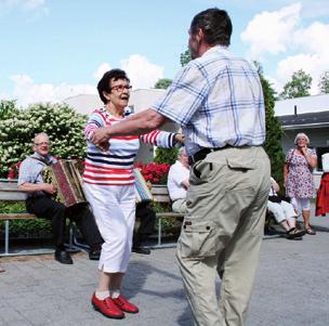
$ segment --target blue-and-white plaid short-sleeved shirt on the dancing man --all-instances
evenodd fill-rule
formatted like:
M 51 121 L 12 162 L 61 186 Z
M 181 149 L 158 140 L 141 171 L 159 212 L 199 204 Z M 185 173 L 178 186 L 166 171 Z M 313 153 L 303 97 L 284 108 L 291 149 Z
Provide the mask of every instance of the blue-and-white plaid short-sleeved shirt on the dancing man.
M 152 108 L 182 127 L 188 155 L 202 147 L 261 145 L 265 140 L 258 71 L 225 47 L 190 61 Z

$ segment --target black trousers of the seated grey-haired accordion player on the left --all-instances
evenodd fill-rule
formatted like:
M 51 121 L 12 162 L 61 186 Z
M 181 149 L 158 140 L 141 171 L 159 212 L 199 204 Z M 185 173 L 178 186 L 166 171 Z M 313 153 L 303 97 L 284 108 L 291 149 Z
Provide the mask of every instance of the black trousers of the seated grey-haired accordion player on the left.
M 58 248 L 63 247 L 65 243 L 66 218 L 76 223 L 90 247 L 103 243 L 94 217 L 87 204 L 78 204 L 66 208 L 63 204 L 44 196 L 28 198 L 26 209 L 38 218 L 51 221 L 54 245 Z

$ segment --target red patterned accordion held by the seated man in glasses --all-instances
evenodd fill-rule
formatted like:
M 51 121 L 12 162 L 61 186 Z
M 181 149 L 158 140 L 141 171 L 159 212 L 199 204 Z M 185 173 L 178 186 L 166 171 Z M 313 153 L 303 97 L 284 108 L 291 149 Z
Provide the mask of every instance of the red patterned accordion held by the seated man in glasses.
M 58 160 L 55 165 L 45 166 L 42 170 L 43 182 L 53 184 L 57 192 L 54 200 L 71 207 L 87 203 L 81 175 L 74 160 Z

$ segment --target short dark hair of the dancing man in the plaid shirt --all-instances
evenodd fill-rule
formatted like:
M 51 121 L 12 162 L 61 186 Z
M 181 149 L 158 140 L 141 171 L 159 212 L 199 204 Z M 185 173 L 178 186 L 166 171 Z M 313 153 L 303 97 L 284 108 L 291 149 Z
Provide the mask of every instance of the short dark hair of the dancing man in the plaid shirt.
M 225 10 L 211 8 L 198 13 L 190 23 L 190 32 L 197 34 L 199 29 L 209 45 L 229 45 L 232 22 Z

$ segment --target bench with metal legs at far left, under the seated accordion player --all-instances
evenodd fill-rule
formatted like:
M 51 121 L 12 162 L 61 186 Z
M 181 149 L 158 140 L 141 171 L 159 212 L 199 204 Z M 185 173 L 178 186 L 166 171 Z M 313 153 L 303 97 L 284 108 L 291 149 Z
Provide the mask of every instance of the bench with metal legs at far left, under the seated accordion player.
M 17 181 L 16 180 L 0 180 L 0 203 L 25 203 L 26 194 L 17 190 Z M 13 220 L 34 220 L 37 219 L 35 214 L 30 214 L 26 211 L 8 213 L 0 212 L 0 221 L 4 221 L 4 251 L 0 252 L 0 256 L 25 256 L 25 255 L 40 255 L 40 253 L 52 253 L 53 249 L 30 249 L 30 250 L 22 250 L 18 252 L 10 252 L 9 250 L 9 240 L 10 240 L 10 221 Z M 73 225 L 69 225 L 69 244 L 68 248 L 70 250 L 76 250 L 77 248 L 74 246 L 74 229 Z

